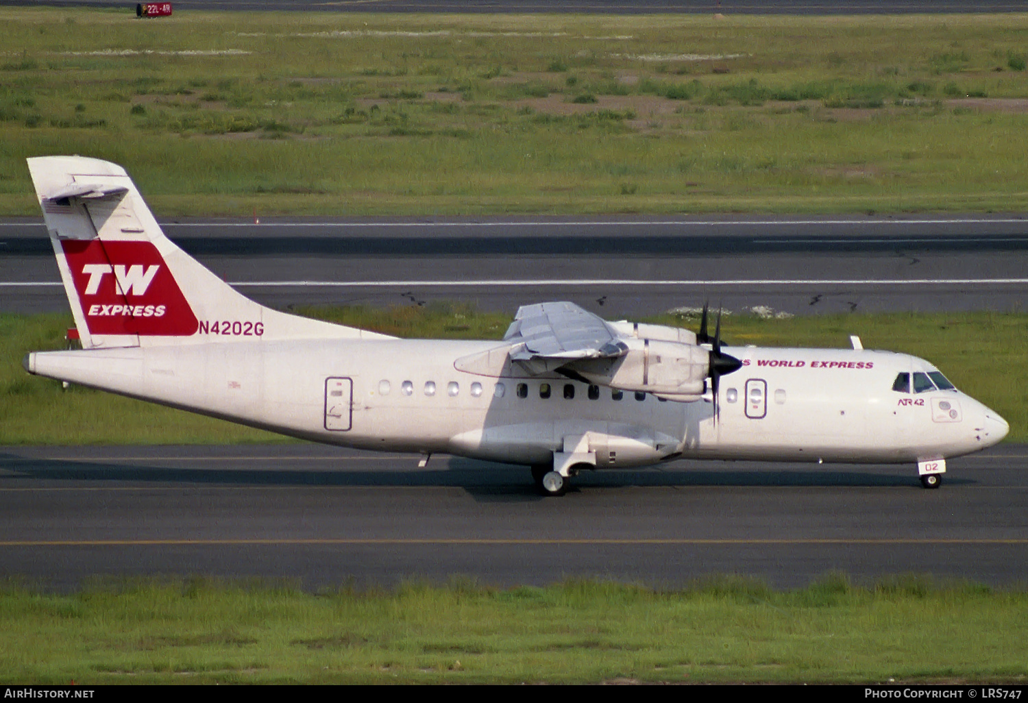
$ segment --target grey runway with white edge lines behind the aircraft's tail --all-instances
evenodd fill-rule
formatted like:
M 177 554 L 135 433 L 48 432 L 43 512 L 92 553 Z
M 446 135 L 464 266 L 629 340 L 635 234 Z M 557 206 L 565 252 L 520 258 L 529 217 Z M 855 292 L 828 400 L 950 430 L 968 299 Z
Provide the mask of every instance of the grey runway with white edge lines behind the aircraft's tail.
M 1018 310 L 1028 219 L 594 217 L 163 222 L 243 293 L 296 304 L 572 300 L 608 318 L 709 298 L 793 314 Z M 0 222 L 0 310 L 67 309 L 41 219 Z

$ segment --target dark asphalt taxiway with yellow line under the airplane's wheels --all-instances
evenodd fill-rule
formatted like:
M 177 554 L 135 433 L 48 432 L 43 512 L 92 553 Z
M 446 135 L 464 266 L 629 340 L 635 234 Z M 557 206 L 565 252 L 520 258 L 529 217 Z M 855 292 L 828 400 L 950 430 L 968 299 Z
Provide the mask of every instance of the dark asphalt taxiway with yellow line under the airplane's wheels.
M 351 581 L 710 574 L 803 586 L 930 574 L 1028 577 L 1028 446 L 913 467 L 674 461 L 580 476 L 543 498 L 523 468 L 308 444 L 0 448 L 0 577 L 70 589 L 100 575 Z

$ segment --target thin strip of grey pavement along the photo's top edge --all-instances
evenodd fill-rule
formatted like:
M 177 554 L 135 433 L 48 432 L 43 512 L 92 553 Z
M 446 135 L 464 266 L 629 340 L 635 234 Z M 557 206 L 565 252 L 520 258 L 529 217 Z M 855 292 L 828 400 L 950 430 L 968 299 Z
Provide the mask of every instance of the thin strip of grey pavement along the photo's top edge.
M 117 0 L 0 0 L 2 5 L 132 7 Z M 897 14 L 908 12 L 1023 12 L 1018 0 L 175 0 L 183 10 L 304 12 L 583 12 L 648 14 Z

